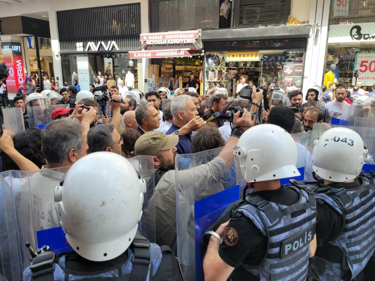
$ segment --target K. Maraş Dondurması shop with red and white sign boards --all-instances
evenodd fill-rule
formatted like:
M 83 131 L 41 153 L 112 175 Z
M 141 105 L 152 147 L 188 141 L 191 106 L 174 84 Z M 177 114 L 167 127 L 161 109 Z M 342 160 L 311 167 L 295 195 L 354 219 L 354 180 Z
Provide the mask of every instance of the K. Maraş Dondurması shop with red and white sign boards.
M 151 59 L 144 73 L 148 90 L 166 87 L 170 76 L 178 80 L 179 88 L 186 86 L 191 73 L 200 81 L 204 55 L 199 30 L 141 34 L 140 41 L 142 51 L 131 51 L 130 58 Z

